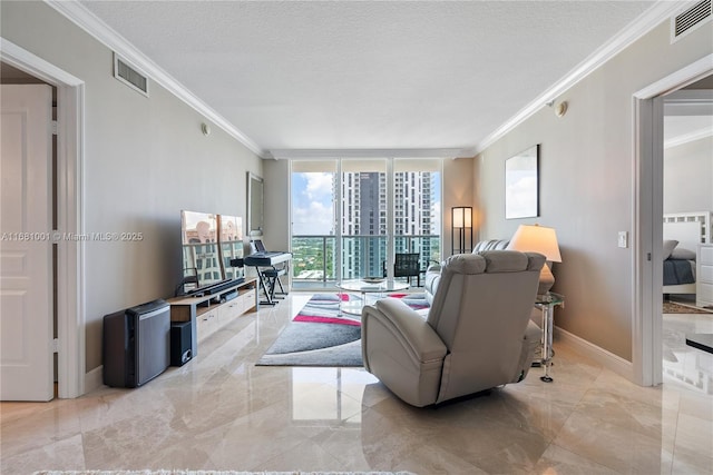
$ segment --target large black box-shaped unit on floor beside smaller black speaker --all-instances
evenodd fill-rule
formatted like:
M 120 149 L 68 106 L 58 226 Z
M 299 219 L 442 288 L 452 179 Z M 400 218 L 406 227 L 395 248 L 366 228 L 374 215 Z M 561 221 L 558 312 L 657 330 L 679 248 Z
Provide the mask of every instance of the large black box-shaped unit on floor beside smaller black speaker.
M 104 384 L 137 387 L 170 364 L 170 306 L 154 300 L 104 317 Z

